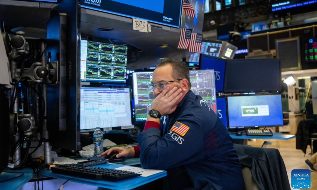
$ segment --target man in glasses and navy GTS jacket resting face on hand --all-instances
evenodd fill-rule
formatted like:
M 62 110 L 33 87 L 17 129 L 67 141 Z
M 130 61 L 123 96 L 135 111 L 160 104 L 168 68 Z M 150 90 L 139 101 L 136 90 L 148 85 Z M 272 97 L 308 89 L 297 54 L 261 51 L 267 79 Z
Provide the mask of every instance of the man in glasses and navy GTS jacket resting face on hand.
M 188 67 L 162 60 L 149 88 L 156 98 L 137 136 L 139 146 L 115 147 L 103 155 L 139 155 L 143 168 L 166 170 L 164 189 L 244 190 L 232 139 L 217 114 L 190 90 Z

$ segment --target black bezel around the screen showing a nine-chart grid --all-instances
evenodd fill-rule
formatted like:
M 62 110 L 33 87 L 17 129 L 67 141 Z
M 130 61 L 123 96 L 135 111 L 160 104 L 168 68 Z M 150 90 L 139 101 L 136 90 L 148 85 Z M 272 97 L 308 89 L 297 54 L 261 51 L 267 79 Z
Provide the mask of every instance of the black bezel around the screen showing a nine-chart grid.
M 87 39 L 88 38 L 88 39 Z M 91 38 L 91 39 L 89 39 Z M 126 55 L 126 65 L 128 65 L 128 54 L 129 54 L 129 46 L 128 45 L 122 45 L 122 44 L 115 44 L 115 43 L 111 43 L 111 42 L 106 42 L 106 41 L 102 41 L 102 39 L 100 38 L 93 38 L 93 37 L 90 37 L 90 36 L 86 36 L 86 35 L 83 35 L 81 34 L 81 40 L 86 40 L 87 42 L 88 41 L 94 41 L 94 42 L 102 42 L 102 43 L 108 43 L 108 44 L 113 44 L 113 45 L 120 45 L 120 46 L 126 46 L 127 47 L 127 55 Z M 80 52 L 81 52 L 81 46 L 80 46 Z M 81 54 L 81 53 L 80 53 Z M 87 60 L 86 60 L 86 64 L 87 64 Z M 126 66 L 126 71 L 127 71 L 127 66 Z M 127 75 L 127 74 L 126 74 Z M 108 80 L 108 81 L 100 81 L 100 80 L 82 80 L 80 79 L 81 83 L 92 83 L 92 84 L 107 84 L 107 85 L 126 85 L 126 79 L 125 81 L 117 81 L 117 82 L 114 82 L 114 81 L 111 81 L 111 80 Z

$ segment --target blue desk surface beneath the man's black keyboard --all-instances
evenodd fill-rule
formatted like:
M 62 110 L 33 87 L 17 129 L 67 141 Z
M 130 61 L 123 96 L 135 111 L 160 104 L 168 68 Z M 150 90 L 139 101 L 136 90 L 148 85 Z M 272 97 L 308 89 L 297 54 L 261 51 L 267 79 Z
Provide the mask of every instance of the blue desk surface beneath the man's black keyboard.
M 123 167 L 125 165 L 121 164 L 103 164 L 103 165 L 98 165 L 98 167 L 101 168 L 109 168 L 109 169 L 115 169 L 119 167 Z M 62 175 L 62 174 L 55 174 L 52 173 L 51 170 L 41 170 L 40 174 L 43 174 L 48 177 L 54 177 L 54 178 L 61 178 L 68 180 L 72 176 L 69 175 Z M 71 181 L 77 182 L 77 183 L 83 183 L 87 185 L 93 185 L 93 186 L 98 186 L 98 187 L 104 187 L 104 188 L 109 188 L 109 189 L 116 189 L 116 190 L 128 190 L 128 189 L 133 189 L 139 186 L 142 186 L 146 183 L 149 183 L 151 181 L 157 180 L 159 178 L 162 178 L 166 176 L 167 173 L 166 171 L 160 172 L 158 174 L 154 174 L 148 177 L 133 177 L 129 178 L 126 180 L 121 180 L 121 181 L 98 181 L 98 180 L 91 180 L 91 179 L 86 179 L 86 178 L 74 178 Z

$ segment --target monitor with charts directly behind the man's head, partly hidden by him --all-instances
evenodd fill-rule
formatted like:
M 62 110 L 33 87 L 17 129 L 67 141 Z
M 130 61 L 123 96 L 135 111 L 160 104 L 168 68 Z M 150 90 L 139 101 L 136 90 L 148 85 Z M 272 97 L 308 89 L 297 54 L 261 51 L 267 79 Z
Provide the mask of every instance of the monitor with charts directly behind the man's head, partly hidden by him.
M 155 96 L 148 84 L 153 72 L 133 72 L 133 97 L 136 121 L 146 121 Z M 204 98 L 206 104 L 217 113 L 215 75 L 213 70 L 190 70 L 191 91 Z

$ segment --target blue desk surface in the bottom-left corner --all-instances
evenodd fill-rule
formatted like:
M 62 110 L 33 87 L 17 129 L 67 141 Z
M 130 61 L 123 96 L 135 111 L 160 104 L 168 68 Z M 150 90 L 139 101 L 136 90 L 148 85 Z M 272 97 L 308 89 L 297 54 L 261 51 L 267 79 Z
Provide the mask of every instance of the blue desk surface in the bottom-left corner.
M 21 177 L 18 177 L 18 178 L 9 180 L 9 181 L 1 182 L 0 189 L 5 189 L 5 190 L 19 189 L 24 184 L 26 184 L 33 176 L 33 169 L 32 168 L 24 168 L 24 169 L 20 169 L 20 170 L 12 170 L 12 169 L 6 168 L 4 171 L 15 172 L 15 173 L 23 172 L 24 173 Z M 7 180 L 10 178 L 19 176 L 19 175 L 21 175 L 21 174 L 11 174 L 11 173 L 2 172 L 0 174 L 0 181 Z

